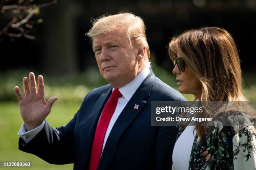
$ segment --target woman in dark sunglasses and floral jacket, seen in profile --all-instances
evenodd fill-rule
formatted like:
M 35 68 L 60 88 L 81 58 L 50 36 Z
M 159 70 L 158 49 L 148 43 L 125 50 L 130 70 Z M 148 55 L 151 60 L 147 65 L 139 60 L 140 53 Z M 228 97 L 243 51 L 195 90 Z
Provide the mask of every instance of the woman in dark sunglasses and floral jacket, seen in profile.
M 221 28 L 189 30 L 169 43 L 169 56 L 174 61 L 179 91 L 199 101 L 246 101 L 242 91 L 241 68 L 236 44 Z M 221 108 L 205 111 L 209 117 L 218 114 L 230 120 L 234 114 L 255 116 L 250 106 L 228 112 Z M 235 107 L 234 107 L 235 106 Z M 249 109 L 248 109 L 249 108 Z M 221 114 L 220 114 L 221 113 Z M 224 114 L 223 114 L 224 113 Z M 255 170 L 255 128 L 248 125 L 190 126 L 179 128 L 173 151 L 174 170 Z

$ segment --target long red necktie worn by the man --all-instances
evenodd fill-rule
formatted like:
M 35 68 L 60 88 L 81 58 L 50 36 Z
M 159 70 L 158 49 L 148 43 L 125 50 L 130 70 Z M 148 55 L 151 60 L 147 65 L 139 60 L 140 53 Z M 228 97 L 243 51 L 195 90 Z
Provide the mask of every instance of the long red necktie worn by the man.
M 102 110 L 92 144 L 92 153 L 89 170 L 97 170 L 98 164 L 100 162 L 102 145 L 108 128 L 108 124 L 111 120 L 112 115 L 115 112 L 115 107 L 118 103 L 118 98 L 121 96 L 122 94 L 120 93 L 120 91 L 118 89 L 115 89 Z

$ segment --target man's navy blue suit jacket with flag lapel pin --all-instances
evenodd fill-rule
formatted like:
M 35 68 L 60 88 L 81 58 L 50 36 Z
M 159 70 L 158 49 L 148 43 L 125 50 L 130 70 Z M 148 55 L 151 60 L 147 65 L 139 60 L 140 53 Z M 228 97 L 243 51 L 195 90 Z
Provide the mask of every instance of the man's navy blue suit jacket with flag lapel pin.
M 51 164 L 74 163 L 75 170 L 87 170 L 97 122 L 112 92 L 111 85 L 89 92 L 70 122 L 52 128 L 48 122 L 19 149 Z M 185 100 L 159 80 L 146 77 L 116 120 L 105 144 L 98 170 L 165 170 L 172 166 L 172 150 L 177 136 L 174 126 L 151 126 L 151 101 Z M 134 109 L 134 105 L 139 105 Z

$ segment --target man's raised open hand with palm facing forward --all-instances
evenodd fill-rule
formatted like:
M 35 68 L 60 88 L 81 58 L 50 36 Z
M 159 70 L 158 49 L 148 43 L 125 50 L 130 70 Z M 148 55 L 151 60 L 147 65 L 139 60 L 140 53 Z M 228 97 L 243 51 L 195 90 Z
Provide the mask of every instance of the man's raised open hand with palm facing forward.
M 36 90 L 36 78 L 33 72 L 29 73 L 29 83 L 27 77 L 23 78 L 23 89 L 24 96 L 18 86 L 14 87 L 19 100 L 21 117 L 26 129 L 29 131 L 41 125 L 51 112 L 51 107 L 58 98 L 51 97 L 46 102 L 43 76 L 38 75 L 38 90 Z

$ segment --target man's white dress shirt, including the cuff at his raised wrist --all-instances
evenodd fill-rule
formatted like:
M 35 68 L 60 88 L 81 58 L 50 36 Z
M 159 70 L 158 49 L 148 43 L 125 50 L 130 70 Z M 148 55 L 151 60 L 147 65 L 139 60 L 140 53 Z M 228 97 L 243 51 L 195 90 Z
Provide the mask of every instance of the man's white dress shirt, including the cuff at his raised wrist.
M 109 122 L 108 129 L 105 134 L 103 146 L 102 146 L 102 151 L 105 147 L 105 144 L 108 139 L 108 135 L 110 134 L 111 129 L 113 128 L 115 121 L 118 119 L 120 113 L 123 111 L 123 108 L 125 105 L 128 103 L 128 101 L 131 99 L 133 94 L 136 92 L 138 87 L 141 85 L 141 83 L 145 80 L 145 78 L 148 76 L 150 72 L 149 67 L 144 68 L 131 82 L 128 84 L 124 85 L 123 87 L 119 88 L 119 91 L 123 95 L 118 99 L 117 106 L 115 108 L 115 112 Z M 114 88 L 113 88 L 114 90 Z M 26 143 L 28 143 L 30 140 L 32 140 L 43 128 L 44 128 L 45 122 L 43 122 L 40 126 L 37 128 L 26 131 L 24 122 L 21 125 L 20 131 L 18 132 L 18 135 L 24 139 Z

